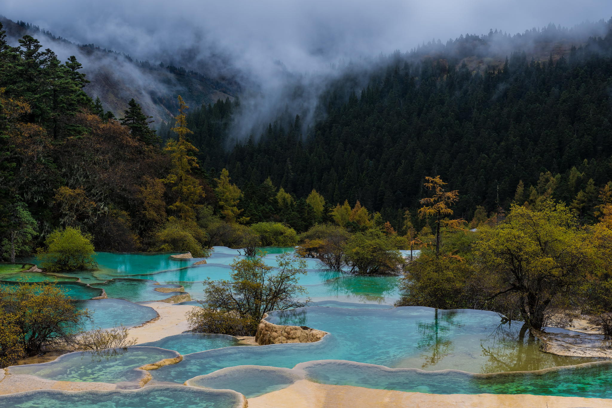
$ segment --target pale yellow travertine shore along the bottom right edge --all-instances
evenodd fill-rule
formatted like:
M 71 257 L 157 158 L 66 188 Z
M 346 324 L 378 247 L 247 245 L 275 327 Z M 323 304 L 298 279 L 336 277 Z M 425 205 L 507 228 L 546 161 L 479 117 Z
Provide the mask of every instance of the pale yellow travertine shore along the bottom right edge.
M 610 408 L 612 399 L 541 395 L 422 394 L 307 380 L 248 399 L 248 408 Z

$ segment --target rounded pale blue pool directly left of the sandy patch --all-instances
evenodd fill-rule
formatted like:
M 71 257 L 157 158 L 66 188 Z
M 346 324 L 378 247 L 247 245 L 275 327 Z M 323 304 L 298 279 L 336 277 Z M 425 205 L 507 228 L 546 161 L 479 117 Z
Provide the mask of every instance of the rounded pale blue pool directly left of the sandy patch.
M 79 300 L 77 308 L 88 309 L 93 322 L 85 330 L 111 328 L 119 325 L 134 327 L 157 317 L 157 312 L 149 306 L 137 305 L 121 299 Z

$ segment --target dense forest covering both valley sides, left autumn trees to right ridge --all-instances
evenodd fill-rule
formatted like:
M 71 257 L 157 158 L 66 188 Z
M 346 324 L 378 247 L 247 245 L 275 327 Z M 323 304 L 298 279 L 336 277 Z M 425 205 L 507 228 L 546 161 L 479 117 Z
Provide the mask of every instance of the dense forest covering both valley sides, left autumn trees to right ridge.
M 93 100 L 75 57 L 3 35 L 2 257 L 32 254 L 66 227 L 96 249 L 199 254 L 294 245 L 334 221 L 427 236 L 433 221 L 416 217 L 426 176 L 458 190 L 455 215 L 476 224 L 549 198 L 592 223 L 612 187 L 611 24 L 381 56 L 334 80 L 315 120 L 286 109 L 241 139 L 239 98 L 191 108 L 179 98 L 166 105 L 181 113 L 154 123 L 136 98 L 115 112 Z

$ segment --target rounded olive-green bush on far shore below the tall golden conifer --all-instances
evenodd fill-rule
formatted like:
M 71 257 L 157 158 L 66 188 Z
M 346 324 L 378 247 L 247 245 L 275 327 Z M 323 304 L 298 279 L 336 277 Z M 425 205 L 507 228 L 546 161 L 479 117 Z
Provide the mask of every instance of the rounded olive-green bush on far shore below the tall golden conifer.
M 184 251 L 190 252 L 194 258 L 206 258 L 211 251 L 196 239 L 204 234 L 201 230 L 193 231 L 194 228 L 198 227 L 182 221 L 169 221 L 155 234 L 158 245 L 155 251 Z

